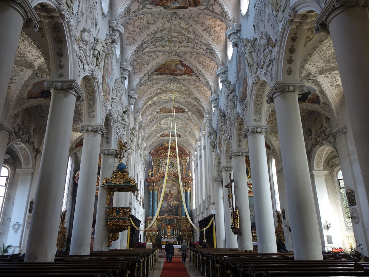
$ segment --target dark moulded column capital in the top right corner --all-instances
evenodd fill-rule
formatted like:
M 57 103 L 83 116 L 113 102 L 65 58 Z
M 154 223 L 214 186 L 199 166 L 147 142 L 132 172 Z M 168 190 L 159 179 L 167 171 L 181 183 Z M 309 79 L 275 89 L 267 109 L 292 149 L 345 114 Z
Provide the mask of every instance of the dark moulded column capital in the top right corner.
M 368 0 L 328 0 L 313 23 L 315 25 L 315 34 L 319 34 L 321 31 L 329 34 L 328 26 L 330 20 L 341 11 L 350 7 L 363 7 L 368 9 L 368 6 Z

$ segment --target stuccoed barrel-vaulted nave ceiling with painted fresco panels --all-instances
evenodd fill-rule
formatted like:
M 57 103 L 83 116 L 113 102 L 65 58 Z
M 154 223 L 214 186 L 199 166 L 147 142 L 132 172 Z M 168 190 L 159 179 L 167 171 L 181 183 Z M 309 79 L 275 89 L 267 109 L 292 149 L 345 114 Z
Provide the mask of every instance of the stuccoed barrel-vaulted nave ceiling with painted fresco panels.
M 115 3 L 146 151 L 169 139 L 173 92 L 178 143 L 196 151 L 204 117 L 211 114 L 209 97 L 218 89 L 215 70 L 226 65 L 225 31 L 233 25 L 237 5 L 234 0 Z

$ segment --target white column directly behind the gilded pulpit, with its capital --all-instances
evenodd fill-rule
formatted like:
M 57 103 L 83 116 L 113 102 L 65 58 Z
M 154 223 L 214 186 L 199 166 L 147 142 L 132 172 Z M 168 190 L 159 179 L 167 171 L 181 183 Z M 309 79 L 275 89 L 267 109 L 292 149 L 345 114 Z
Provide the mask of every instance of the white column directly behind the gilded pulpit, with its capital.
M 101 188 L 105 178 L 110 178 L 114 171 L 115 149 L 101 149 L 100 188 L 97 196 L 95 237 L 93 251 L 107 251 L 108 247 L 108 222 L 106 214 L 106 189 Z

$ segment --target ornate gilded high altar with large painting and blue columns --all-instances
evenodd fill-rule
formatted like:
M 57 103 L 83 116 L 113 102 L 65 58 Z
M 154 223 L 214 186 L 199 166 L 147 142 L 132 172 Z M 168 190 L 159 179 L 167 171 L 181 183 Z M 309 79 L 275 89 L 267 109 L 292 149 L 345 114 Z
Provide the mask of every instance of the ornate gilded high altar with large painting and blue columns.
M 169 145 L 165 141 L 151 153 L 152 168 L 148 172 L 149 175 L 146 179 L 146 182 L 149 184 L 149 213 L 145 219 L 146 226 L 149 226 L 152 222 L 160 203 L 168 148 Z M 145 232 L 147 242 L 162 243 L 161 239 L 178 240 L 178 237 L 189 241 L 192 236 L 193 229 L 184 211 L 178 179 L 178 170 L 180 170 L 187 212 L 190 214 L 190 192 L 193 179 L 191 178 L 191 171 L 188 167 L 189 154 L 184 148 L 178 146 L 178 156 L 180 168 L 177 168 L 176 146 L 175 142 L 173 142 L 170 146 L 168 176 L 163 201 L 154 224 Z

